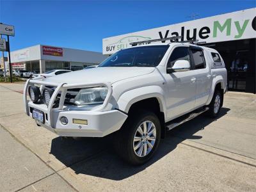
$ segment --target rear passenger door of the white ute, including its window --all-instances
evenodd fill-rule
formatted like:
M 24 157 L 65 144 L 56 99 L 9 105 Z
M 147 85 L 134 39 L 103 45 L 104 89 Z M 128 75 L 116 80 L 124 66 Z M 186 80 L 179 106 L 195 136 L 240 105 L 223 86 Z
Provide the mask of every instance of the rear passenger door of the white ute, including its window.
M 206 65 L 206 61 L 209 63 L 209 60 L 205 57 L 204 49 L 195 46 L 190 46 L 189 49 L 193 70 L 196 72 L 195 108 L 198 108 L 205 105 L 210 94 L 212 84 L 211 68 Z

